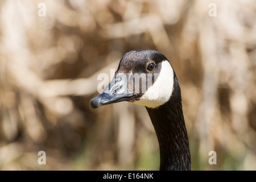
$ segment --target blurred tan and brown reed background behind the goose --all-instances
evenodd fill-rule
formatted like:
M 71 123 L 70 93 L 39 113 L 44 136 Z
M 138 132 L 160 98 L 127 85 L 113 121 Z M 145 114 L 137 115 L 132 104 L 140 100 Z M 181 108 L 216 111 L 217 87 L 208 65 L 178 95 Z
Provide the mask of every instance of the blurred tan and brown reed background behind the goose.
M 98 75 L 108 84 L 131 49 L 162 52 L 175 69 L 193 170 L 256 170 L 249 0 L 0 1 L 0 169 L 158 170 L 143 106 L 89 105 Z

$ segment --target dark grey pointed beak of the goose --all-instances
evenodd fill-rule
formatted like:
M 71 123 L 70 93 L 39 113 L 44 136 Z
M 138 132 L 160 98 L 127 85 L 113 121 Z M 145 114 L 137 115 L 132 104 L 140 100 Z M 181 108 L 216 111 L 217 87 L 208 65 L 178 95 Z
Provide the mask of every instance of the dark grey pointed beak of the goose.
M 90 100 L 92 108 L 98 108 L 102 105 L 112 104 L 116 102 L 129 101 L 135 93 L 130 92 L 127 88 L 129 82 L 129 73 L 118 75 L 115 73 L 113 80 L 103 90 L 103 92 Z

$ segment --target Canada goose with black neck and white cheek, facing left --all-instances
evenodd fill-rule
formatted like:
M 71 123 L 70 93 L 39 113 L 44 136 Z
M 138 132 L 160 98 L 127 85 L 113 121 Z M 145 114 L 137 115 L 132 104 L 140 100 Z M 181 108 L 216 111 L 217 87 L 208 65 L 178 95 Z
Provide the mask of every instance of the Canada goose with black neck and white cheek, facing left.
M 109 86 L 90 105 L 97 108 L 121 101 L 146 106 L 159 142 L 160 170 L 191 170 L 180 86 L 162 53 L 151 50 L 125 53 Z

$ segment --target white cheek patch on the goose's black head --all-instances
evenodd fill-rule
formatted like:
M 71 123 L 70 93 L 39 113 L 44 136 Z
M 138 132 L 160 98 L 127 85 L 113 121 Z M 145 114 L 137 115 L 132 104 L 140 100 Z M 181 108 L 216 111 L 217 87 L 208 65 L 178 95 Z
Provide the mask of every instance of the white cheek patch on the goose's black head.
M 173 86 L 174 70 L 169 61 L 165 60 L 154 84 L 147 89 L 140 100 L 133 103 L 152 108 L 163 105 L 170 99 Z

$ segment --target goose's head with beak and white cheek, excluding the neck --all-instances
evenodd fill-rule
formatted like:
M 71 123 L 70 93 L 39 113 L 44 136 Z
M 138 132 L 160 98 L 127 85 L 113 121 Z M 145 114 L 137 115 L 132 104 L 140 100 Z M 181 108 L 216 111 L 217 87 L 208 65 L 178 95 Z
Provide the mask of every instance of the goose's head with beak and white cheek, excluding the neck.
M 172 94 L 174 71 L 160 52 L 133 50 L 123 55 L 113 80 L 103 93 L 93 98 L 93 108 L 129 101 L 147 107 L 158 107 Z

